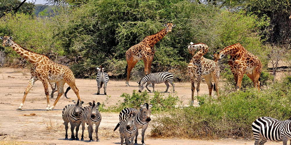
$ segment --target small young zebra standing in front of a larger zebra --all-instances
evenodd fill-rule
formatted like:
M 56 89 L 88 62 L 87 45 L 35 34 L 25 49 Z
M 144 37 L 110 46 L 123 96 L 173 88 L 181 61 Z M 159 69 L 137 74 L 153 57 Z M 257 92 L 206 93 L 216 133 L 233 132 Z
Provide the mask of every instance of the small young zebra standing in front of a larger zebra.
M 121 120 L 113 131 L 115 131 L 119 127 L 121 145 L 123 144 L 125 138 L 125 144 L 133 145 L 134 135 L 136 133 L 136 126 L 134 125 L 134 116 L 135 113 L 127 114 L 125 113 L 125 117 L 128 119 Z

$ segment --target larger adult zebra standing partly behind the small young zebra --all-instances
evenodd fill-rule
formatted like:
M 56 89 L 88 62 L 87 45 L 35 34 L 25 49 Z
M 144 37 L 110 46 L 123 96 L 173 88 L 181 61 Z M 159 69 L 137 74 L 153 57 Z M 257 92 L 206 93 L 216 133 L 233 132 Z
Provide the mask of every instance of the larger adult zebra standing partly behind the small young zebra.
M 119 121 L 127 118 L 125 116 L 125 113 L 127 113 L 127 114 L 135 113 L 134 124 L 135 124 L 137 129 L 136 129 L 136 133 L 135 133 L 134 144 L 136 144 L 136 145 L 137 145 L 137 136 L 139 135 L 138 129 L 140 129 L 140 128 L 142 128 L 141 143 L 142 143 L 142 145 L 145 145 L 145 142 L 144 142 L 145 130 L 148 127 L 148 123 L 151 120 L 150 119 L 150 113 L 151 113 L 150 108 L 152 108 L 152 104 L 148 105 L 148 103 L 145 103 L 145 104 L 141 105 L 140 110 L 136 110 L 135 108 L 125 108 L 125 109 L 121 110 L 121 112 L 119 113 Z

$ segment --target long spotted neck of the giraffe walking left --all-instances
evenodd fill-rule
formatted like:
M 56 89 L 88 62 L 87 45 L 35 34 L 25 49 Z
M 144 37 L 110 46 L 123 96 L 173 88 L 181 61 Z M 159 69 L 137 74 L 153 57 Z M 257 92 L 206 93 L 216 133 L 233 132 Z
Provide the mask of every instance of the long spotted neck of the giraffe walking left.
M 34 52 L 30 51 L 30 50 L 27 50 L 27 49 L 23 48 L 22 46 L 18 45 L 14 41 L 11 41 L 9 45 L 20 56 L 22 56 L 24 59 L 26 59 L 27 61 L 29 61 L 32 64 L 35 64 L 37 62 L 36 61 L 37 60 L 37 57 L 38 56 L 41 56 L 40 54 L 34 53 Z

